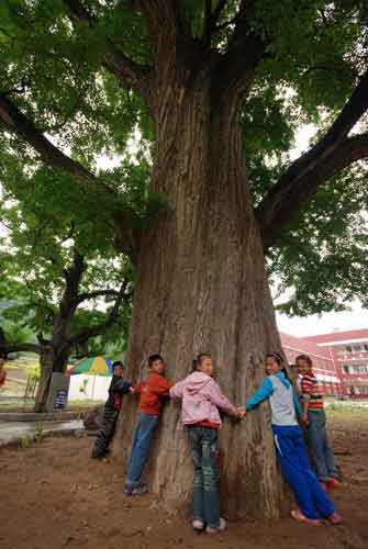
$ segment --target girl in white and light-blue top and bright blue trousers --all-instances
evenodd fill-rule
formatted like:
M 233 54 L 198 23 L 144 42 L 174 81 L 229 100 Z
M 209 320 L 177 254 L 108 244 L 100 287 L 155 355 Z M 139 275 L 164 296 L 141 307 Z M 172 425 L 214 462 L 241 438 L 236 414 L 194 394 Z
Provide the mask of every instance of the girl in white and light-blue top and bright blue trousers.
M 278 352 L 266 356 L 266 373 L 260 388 L 246 401 L 245 411 L 269 399 L 277 459 L 299 505 L 291 516 L 315 526 L 323 518 L 331 524 L 339 524 L 342 517 L 335 513 L 333 503 L 309 463 L 303 432 L 297 421 L 297 413 L 301 416 L 300 404 Z

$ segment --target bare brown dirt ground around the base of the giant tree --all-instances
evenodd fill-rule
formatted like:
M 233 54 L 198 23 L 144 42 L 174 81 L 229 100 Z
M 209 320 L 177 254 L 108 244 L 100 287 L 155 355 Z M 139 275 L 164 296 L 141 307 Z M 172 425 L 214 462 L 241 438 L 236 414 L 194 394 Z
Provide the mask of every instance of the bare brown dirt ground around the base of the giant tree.
M 368 548 L 368 411 L 332 413 L 330 426 L 344 478 L 333 494 L 344 516 L 338 527 L 283 518 L 196 534 L 185 519 L 157 509 L 153 496 L 124 497 L 122 466 L 92 461 L 92 438 L 49 438 L 0 452 L 0 548 Z

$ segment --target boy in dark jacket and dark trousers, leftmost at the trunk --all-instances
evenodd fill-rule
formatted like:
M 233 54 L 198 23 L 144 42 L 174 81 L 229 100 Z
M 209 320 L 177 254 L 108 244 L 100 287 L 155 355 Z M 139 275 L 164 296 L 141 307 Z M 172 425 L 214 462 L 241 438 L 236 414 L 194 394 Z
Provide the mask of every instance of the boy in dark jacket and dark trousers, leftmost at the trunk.
M 92 450 L 93 459 L 103 459 L 110 452 L 109 445 L 115 434 L 123 394 L 131 392 L 132 384 L 123 380 L 123 363 L 118 360 L 112 367 L 113 377 L 109 388 L 109 397 L 103 410 L 102 425 Z

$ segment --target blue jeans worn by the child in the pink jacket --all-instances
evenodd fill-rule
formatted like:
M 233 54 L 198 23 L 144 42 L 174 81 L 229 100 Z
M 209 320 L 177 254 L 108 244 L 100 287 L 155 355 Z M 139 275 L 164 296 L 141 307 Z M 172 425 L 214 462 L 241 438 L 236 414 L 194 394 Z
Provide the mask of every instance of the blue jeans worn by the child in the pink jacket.
M 193 519 L 220 526 L 218 429 L 187 427 L 193 458 Z

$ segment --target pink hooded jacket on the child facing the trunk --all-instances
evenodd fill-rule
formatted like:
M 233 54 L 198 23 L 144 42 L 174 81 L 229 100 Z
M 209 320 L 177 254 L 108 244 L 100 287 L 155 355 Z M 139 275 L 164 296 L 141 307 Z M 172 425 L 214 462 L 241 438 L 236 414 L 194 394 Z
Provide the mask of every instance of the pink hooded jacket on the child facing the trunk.
M 236 407 L 224 396 L 218 383 L 207 373 L 196 371 L 170 389 L 171 399 L 182 399 L 181 418 L 185 425 L 211 422 L 221 425 L 219 408 L 230 415 Z

